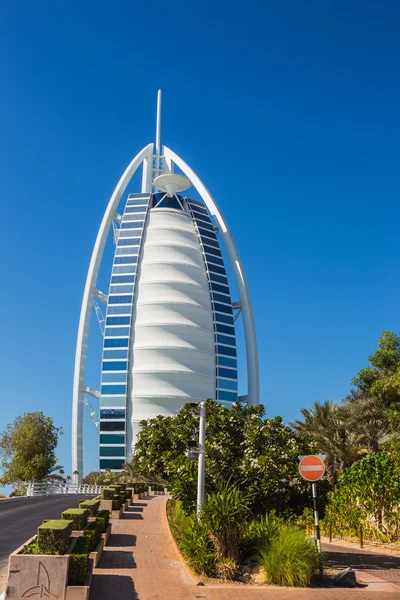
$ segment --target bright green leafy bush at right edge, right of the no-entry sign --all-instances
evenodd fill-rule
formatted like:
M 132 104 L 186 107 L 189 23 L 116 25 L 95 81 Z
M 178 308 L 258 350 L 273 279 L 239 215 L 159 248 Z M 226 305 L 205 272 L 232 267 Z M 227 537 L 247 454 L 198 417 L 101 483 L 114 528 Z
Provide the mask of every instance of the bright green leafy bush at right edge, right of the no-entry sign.
M 326 520 L 374 527 L 392 539 L 400 534 L 400 467 L 385 451 L 375 452 L 343 471 L 329 495 Z

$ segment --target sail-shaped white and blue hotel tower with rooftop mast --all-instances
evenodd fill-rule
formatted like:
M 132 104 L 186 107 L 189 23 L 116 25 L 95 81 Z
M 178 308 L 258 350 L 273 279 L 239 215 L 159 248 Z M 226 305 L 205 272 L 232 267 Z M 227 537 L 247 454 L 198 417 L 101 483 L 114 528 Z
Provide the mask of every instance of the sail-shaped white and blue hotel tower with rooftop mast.
M 228 407 L 238 400 L 259 403 L 256 333 L 238 251 L 204 183 L 175 152 L 161 147 L 160 114 L 161 92 L 156 143 L 143 148 L 119 180 L 89 265 L 72 398 L 75 481 L 83 475 L 85 404 L 92 417 L 97 415 L 88 396 L 100 402 L 94 419 L 100 470 L 118 470 L 131 459 L 144 419 L 173 416 L 185 403 L 207 398 Z M 141 189 L 125 194 L 138 169 Z M 115 250 L 106 293 L 98 289 L 97 278 L 109 234 Z M 94 312 L 101 315 L 103 332 L 98 390 L 85 382 Z M 243 396 L 238 396 L 239 323 L 246 346 L 248 392 Z

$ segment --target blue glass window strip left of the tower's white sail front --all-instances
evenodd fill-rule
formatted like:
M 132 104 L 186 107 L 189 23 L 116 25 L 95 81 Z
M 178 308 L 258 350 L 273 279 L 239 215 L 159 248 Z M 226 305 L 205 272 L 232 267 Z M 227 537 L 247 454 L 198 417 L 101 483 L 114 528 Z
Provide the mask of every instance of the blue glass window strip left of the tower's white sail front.
M 114 254 L 101 377 L 100 469 L 120 469 L 126 458 L 126 395 L 131 316 L 136 267 L 150 197 L 150 194 L 128 196 Z

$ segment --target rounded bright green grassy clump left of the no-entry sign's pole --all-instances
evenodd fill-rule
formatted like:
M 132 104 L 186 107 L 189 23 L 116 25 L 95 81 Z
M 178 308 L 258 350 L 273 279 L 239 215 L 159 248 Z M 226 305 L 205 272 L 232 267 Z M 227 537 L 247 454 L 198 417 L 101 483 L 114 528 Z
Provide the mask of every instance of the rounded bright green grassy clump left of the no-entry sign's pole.
M 306 587 L 321 566 L 317 548 L 296 525 L 281 525 L 268 547 L 260 552 L 266 581 Z

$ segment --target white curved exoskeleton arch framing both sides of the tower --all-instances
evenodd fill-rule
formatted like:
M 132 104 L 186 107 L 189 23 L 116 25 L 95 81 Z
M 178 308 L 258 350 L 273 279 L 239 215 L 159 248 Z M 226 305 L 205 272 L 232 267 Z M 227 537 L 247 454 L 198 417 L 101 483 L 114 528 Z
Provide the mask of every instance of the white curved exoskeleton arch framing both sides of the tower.
M 214 199 L 196 173 L 177 154 L 165 146 L 163 147 L 162 156 L 159 156 L 158 153 L 157 156 L 154 156 L 153 152 L 153 144 L 149 144 L 135 156 L 126 168 L 108 203 L 90 260 L 79 320 L 74 368 L 72 400 L 72 471 L 74 483 L 77 483 L 83 475 L 83 407 L 84 393 L 88 389 L 85 387 L 85 371 L 92 304 L 96 296 L 100 299 L 103 296 L 103 299 L 106 300 L 104 294 L 99 294 L 96 288 L 97 277 L 107 236 L 112 222 L 116 218 L 119 202 L 133 175 L 142 164 L 143 175 L 141 191 L 143 193 L 151 192 L 153 174 L 157 175 L 160 171 L 172 172 L 173 165 L 175 164 L 195 187 L 218 225 L 218 230 L 227 251 L 235 277 L 243 318 L 248 379 L 248 396 L 246 397 L 246 400 L 249 406 L 254 406 L 259 403 L 258 353 L 253 312 L 240 258 L 230 231 Z M 153 159 L 155 159 L 155 169 L 153 168 Z

